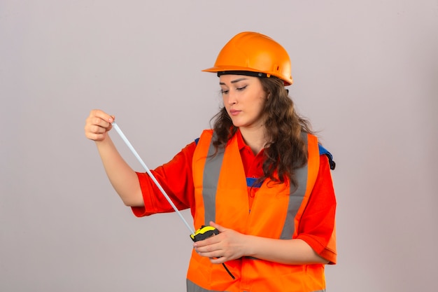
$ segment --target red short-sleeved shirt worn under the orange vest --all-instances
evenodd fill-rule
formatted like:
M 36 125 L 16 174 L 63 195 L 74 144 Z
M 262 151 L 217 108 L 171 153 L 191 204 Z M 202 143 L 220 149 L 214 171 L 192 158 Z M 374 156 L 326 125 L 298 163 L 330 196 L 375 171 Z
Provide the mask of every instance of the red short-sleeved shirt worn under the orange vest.
M 243 168 L 247 177 L 260 177 L 262 174 L 262 152 L 253 155 L 251 149 L 244 144 L 241 134 L 236 133 L 237 144 L 243 162 Z M 167 194 L 176 204 L 178 209 L 191 208 L 195 214 L 194 186 L 192 177 L 192 157 L 196 144 L 186 146 L 173 160 L 161 167 L 157 167 L 153 174 L 160 181 Z M 136 216 L 148 216 L 150 214 L 173 211 L 169 202 L 165 200 L 160 190 L 156 188 L 147 174 L 139 173 L 143 199 L 146 207 L 133 207 Z M 248 193 L 251 204 L 257 188 Z M 315 194 L 315 195 L 313 195 Z M 296 238 L 304 240 L 321 257 L 336 262 L 336 251 L 327 248 L 327 241 L 334 230 L 334 211 L 336 201 L 332 187 L 330 167 L 327 157 L 320 156 L 319 171 L 314 183 L 312 195 L 306 204 L 306 211 L 299 223 Z M 199 226 L 198 226 L 199 227 Z

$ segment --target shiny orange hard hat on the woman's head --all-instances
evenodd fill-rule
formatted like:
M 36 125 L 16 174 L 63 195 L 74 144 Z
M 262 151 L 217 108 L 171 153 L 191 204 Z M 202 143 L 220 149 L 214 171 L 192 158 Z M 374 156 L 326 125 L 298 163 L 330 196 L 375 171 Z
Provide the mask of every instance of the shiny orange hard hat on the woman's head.
M 220 50 L 214 67 L 206 72 L 250 75 L 259 77 L 276 76 L 284 85 L 292 84 L 288 52 L 269 36 L 258 32 L 236 34 Z

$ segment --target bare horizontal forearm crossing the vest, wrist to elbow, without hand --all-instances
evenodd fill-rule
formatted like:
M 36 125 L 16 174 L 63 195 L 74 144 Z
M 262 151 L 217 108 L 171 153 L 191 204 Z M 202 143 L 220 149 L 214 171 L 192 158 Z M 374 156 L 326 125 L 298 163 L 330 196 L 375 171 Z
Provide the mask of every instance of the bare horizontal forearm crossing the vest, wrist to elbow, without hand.
M 302 239 L 283 240 L 246 236 L 246 256 L 289 265 L 328 263 Z

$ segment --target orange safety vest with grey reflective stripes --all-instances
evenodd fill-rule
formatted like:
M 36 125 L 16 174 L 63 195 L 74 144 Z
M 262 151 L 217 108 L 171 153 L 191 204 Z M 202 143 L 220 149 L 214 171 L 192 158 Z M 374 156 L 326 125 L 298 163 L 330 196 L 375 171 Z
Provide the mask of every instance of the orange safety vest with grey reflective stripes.
M 248 186 L 234 136 L 225 151 L 211 144 L 213 130 L 204 130 L 193 156 L 195 183 L 195 228 L 214 221 L 246 235 L 291 239 L 297 237 L 300 218 L 318 176 L 318 140 L 304 134 L 309 159 L 297 169 L 298 188 L 289 183 L 267 186 L 268 179 L 257 190 L 249 211 Z M 187 274 L 190 292 L 266 292 L 325 291 L 324 265 L 285 265 L 257 258 L 243 257 L 225 263 L 235 279 L 222 265 L 192 251 Z

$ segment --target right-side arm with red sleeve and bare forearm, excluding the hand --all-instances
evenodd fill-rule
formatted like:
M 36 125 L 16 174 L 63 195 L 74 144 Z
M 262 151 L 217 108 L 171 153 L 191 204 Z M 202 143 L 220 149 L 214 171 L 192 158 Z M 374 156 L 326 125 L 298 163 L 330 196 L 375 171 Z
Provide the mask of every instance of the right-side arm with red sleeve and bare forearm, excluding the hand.
M 312 195 L 304 211 L 296 239 L 248 239 L 248 251 L 256 258 L 277 263 L 335 263 L 334 217 L 336 198 L 327 157 L 320 159 L 320 169 Z M 332 241 L 334 240 L 334 241 Z M 323 257 L 324 256 L 324 257 Z

